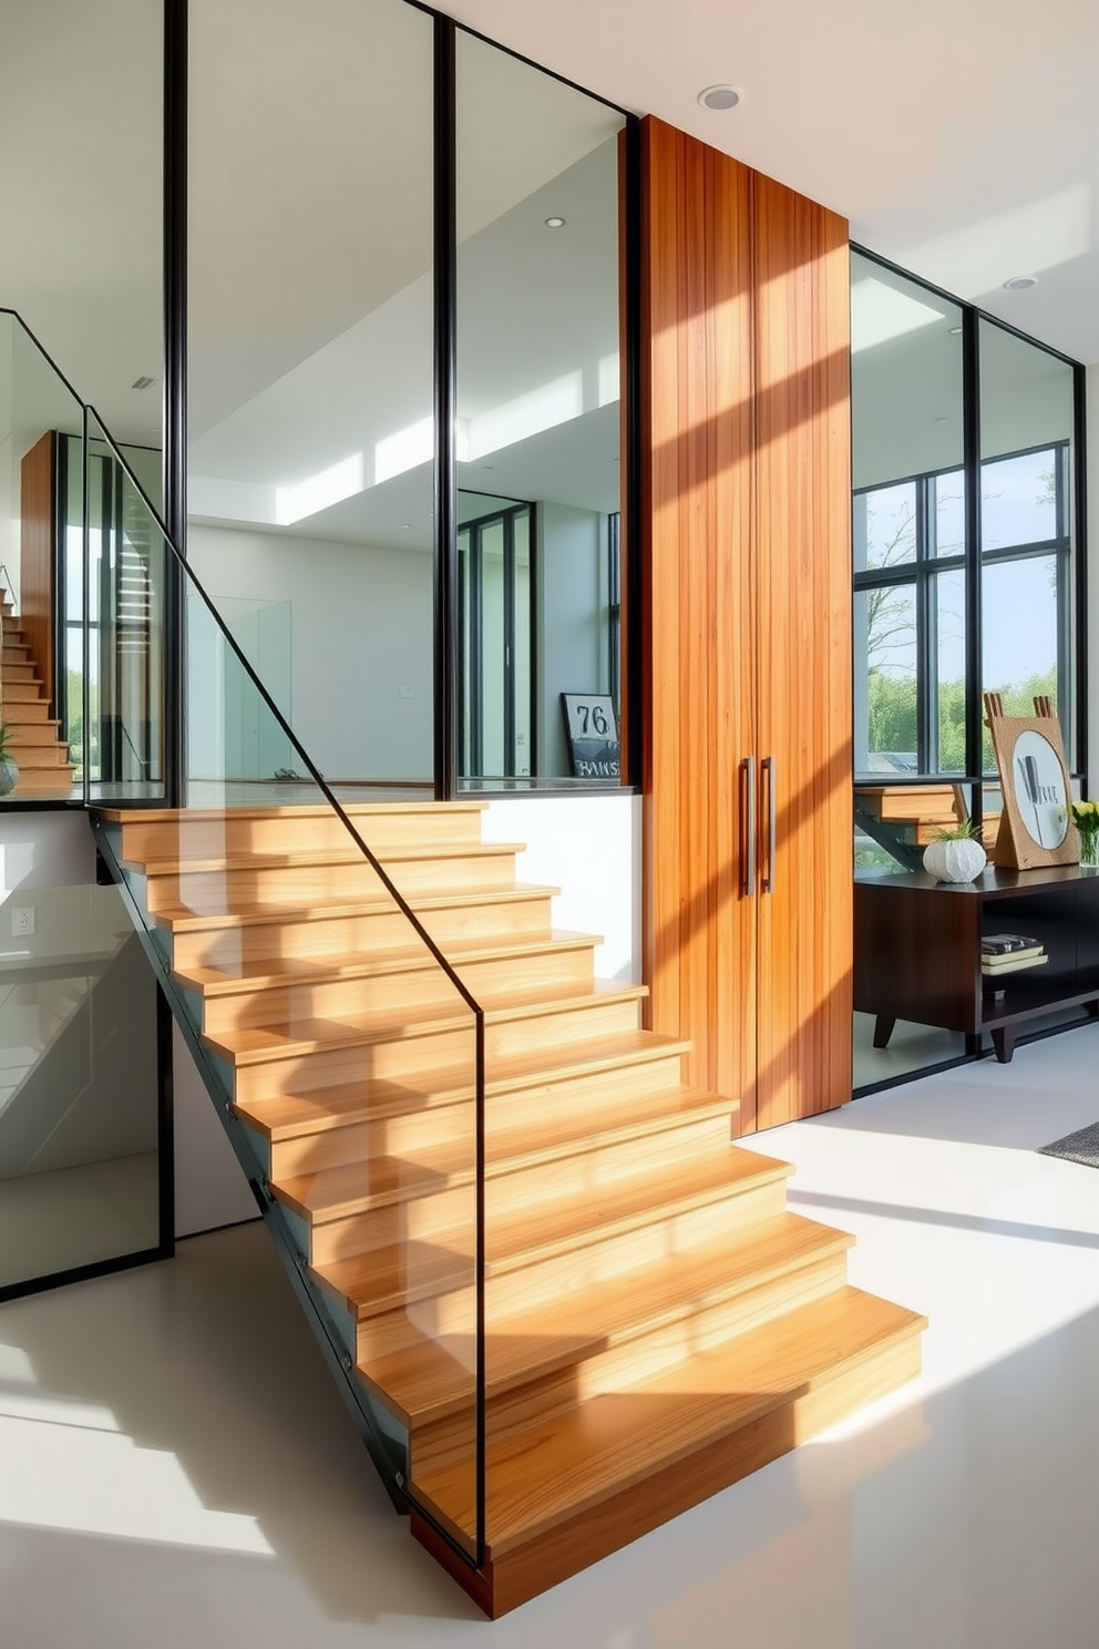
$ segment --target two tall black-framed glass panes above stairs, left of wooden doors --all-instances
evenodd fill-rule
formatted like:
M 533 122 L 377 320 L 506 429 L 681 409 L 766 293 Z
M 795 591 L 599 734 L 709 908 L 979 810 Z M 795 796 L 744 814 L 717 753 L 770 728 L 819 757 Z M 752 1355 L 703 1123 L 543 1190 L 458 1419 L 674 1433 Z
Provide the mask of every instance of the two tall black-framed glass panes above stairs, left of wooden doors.
M 338 788 L 438 782 L 440 566 L 450 782 L 590 783 L 562 694 L 618 701 L 624 117 L 458 30 L 451 175 L 435 21 L 318 5 L 189 13 L 189 561 L 252 663 L 277 608 L 269 684 Z M 318 208 L 320 171 L 344 211 Z

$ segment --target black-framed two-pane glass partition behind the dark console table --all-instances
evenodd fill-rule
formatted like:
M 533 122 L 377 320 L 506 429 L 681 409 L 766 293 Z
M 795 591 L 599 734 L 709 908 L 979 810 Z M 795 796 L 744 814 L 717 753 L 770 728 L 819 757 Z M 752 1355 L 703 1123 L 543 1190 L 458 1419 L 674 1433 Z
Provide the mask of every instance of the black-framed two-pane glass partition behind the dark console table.
M 852 254 L 855 872 L 921 867 L 1000 815 L 982 694 L 1056 706 L 1083 782 L 1078 376 L 970 305 Z M 855 1087 L 962 1057 L 855 1014 Z

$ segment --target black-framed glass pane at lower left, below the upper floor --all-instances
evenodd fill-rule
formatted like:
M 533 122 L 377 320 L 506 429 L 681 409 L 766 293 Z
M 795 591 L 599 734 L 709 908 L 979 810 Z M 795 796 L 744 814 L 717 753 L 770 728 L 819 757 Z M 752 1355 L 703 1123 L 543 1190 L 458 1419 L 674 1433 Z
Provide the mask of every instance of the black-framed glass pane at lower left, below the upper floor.
M 23 887 L 0 953 L 0 1290 L 158 1247 L 157 984 L 115 887 Z

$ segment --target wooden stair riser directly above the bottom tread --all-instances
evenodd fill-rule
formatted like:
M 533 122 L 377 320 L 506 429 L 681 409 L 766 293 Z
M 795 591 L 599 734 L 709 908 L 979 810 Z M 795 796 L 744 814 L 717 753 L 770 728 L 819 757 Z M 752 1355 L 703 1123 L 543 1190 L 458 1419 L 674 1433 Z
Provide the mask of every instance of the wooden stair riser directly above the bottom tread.
M 577 1403 L 628 1392 L 633 1384 L 713 1351 L 735 1334 L 746 1334 L 783 1311 L 822 1299 L 840 1286 L 845 1276 L 847 1257 L 832 1255 L 748 1294 L 690 1311 L 659 1329 L 639 1329 L 608 1351 L 595 1352 L 540 1380 L 516 1385 L 489 1400 L 489 1438 L 501 1440 L 532 1421 L 564 1415 Z M 369 1370 L 369 1359 L 359 1354 L 359 1365 Z M 371 1390 L 377 1392 L 377 1387 L 371 1385 Z M 417 1473 L 425 1474 L 463 1458 L 471 1459 L 473 1438 L 473 1393 L 468 1407 L 458 1413 L 425 1423 L 414 1420 L 409 1431 L 414 1481 Z

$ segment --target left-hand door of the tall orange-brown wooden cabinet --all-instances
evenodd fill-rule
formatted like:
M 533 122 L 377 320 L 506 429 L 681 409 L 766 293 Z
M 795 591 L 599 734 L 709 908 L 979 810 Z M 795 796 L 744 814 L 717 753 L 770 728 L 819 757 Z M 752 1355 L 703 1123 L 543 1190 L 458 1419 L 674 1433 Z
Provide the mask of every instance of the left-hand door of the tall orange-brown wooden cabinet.
M 750 171 L 643 122 L 641 562 L 646 980 L 687 1078 L 755 1115 L 755 902 L 738 765 L 755 750 Z

